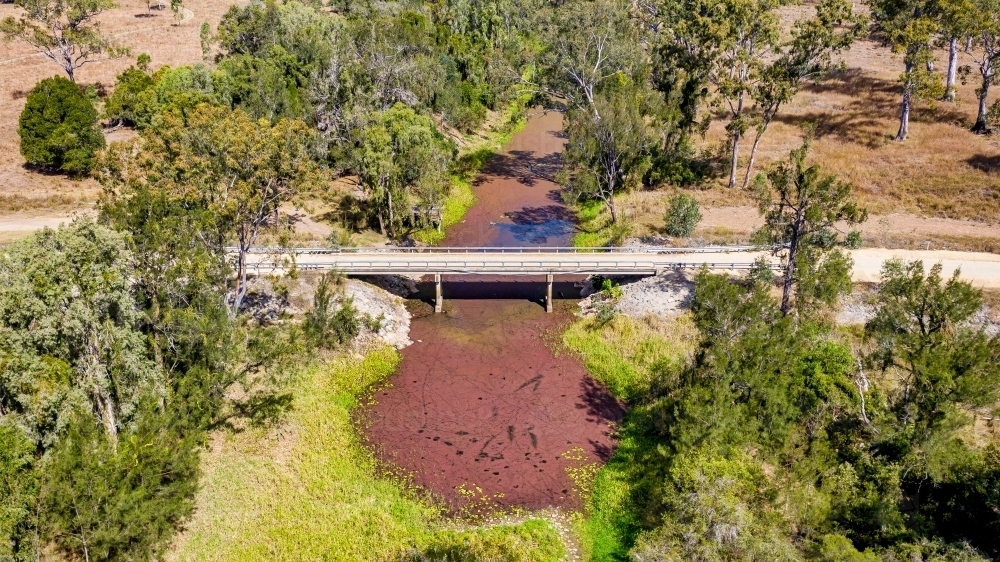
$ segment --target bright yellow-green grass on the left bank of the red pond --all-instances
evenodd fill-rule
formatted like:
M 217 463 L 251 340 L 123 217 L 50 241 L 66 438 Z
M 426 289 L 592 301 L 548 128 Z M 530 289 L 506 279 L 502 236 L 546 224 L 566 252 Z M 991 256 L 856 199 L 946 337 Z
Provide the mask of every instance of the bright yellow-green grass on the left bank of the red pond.
M 294 407 L 280 426 L 216 434 L 197 509 L 168 559 L 561 559 L 565 547 L 546 520 L 448 521 L 441 508 L 378 475 L 351 410 L 398 361 L 384 348 L 311 364 L 293 384 Z

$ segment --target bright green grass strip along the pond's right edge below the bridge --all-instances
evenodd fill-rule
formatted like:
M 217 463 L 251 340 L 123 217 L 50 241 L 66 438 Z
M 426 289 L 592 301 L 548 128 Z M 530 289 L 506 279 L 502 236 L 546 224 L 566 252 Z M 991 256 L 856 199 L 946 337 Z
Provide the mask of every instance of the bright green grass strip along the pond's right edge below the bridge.
M 563 344 L 581 357 L 595 379 L 633 403 L 648 393 L 658 372 L 681 364 L 694 341 L 687 315 L 641 320 L 618 316 L 603 326 L 583 319 L 563 335 Z M 586 560 L 628 560 L 637 535 L 650 524 L 642 506 L 662 475 L 656 469 L 661 457 L 649 437 L 649 424 L 646 407 L 631 408 L 618 429 L 615 454 L 597 472 L 586 514 L 576 526 Z

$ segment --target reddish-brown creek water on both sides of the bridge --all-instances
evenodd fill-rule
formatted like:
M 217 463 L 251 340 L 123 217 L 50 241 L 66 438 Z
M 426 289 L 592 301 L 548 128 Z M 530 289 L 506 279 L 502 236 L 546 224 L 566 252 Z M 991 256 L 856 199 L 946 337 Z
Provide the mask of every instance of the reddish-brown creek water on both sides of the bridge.
M 448 231 L 448 246 L 560 246 L 572 214 L 551 178 L 562 115 L 534 114 L 474 186 L 477 203 Z M 414 318 L 402 363 L 366 412 L 368 438 L 384 461 L 460 508 L 575 507 L 568 468 L 607 460 L 621 406 L 567 354 L 557 336 L 575 301 L 541 305 L 542 279 L 450 277 L 444 314 Z M 424 297 L 433 287 L 422 287 Z M 572 281 L 557 296 L 575 297 Z M 571 458 L 568 458 L 571 457 Z M 463 493 L 464 491 L 472 494 Z

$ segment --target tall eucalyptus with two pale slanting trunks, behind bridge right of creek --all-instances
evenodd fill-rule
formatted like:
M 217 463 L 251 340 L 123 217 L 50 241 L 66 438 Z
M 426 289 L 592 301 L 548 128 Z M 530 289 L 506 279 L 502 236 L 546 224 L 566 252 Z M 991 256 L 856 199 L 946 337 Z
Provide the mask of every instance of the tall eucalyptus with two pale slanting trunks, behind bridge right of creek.
M 755 131 L 743 186 L 752 177 L 760 139 L 798 92 L 832 65 L 864 29 L 864 18 L 845 0 L 823 0 L 813 16 L 796 21 L 783 39 L 778 10 L 787 0 L 702 0 L 669 4 L 664 10 L 661 62 L 676 65 L 715 92 L 713 108 L 726 114 L 729 186 L 739 171 L 741 144 Z M 671 74 L 671 71 L 667 71 Z M 673 71 L 676 74 L 676 71 Z

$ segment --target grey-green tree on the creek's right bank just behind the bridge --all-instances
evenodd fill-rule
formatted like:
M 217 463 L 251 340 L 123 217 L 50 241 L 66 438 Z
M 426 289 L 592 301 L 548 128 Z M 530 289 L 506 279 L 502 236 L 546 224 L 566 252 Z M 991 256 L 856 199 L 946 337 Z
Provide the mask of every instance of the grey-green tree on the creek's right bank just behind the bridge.
M 653 140 L 635 89 L 602 93 L 569 112 L 563 161 L 569 195 L 604 202 L 618 222 L 615 194 L 637 185 L 649 166 Z

